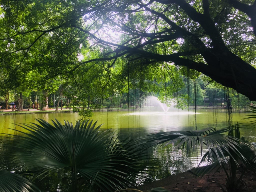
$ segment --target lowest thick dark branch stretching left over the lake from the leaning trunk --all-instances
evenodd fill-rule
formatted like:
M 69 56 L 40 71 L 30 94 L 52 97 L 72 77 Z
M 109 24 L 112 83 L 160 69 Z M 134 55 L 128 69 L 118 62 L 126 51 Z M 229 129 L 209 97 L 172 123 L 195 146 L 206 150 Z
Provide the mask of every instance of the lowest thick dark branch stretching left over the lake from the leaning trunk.
M 159 55 L 148 53 L 143 50 L 136 50 L 133 54 L 141 55 L 145 58 L 154 59 L 156 61 L 173 62 L 178 66 L 186 66 L 190 69 L 195 69 L 205 75 L 211 77 L 216 82 L 223 86 L 235 89 L 238 93 L 246 95 L 250 100 L 256 100 L 256 69 L 244 62 L 230 65 L 221 65 L 219 67 L 207 65 L 202 62 L 196 62 L 190 59 L 180 58 L 176 54 Z M 241 67 L 243 66 L 243 67 Z

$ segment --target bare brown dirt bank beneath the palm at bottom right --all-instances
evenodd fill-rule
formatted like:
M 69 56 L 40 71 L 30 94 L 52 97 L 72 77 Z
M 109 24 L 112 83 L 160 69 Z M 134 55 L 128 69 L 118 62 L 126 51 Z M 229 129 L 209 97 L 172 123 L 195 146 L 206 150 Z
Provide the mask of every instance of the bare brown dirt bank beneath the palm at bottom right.
M 238 170 L 238 175 L 240 175 Z M 207 174 L 203 177 L 196 177 L 193 170 L 171 175 L 167 178 L 146 183 L 139 187 L 142 191 L 147 191 L 156 187 L 163 187 L 168 191 L 180 192 L 221 192 L 226 191 L 226 174 L 223 169 Z M 240 190 L 242 192 L 256 191 L 256 174 L 247 170 L 242 177 L 242 185 Z

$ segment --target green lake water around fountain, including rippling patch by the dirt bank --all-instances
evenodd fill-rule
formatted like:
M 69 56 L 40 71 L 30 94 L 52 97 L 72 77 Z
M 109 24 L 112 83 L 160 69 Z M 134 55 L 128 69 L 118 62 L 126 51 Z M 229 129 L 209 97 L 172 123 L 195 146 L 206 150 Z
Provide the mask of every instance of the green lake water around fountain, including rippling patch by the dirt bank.
M 244 123 L 248 112 L 233 112 L 233 123 Z M 195 119 L 196 116 L 196 119 Z M 78 113 L 35 113 L 35 114 L 16 114 L 0 115 L 0 133 L 13 134 L 14 130 L 20 130 L 19 123 L 36 123 L 35 119 L 44 119 L 50 122 L 52 119 L 58 119 L 61 123 L 64 120 L 75 123 L 79 116 Z M 194 130 L 197 122 L 197 129 L 206 127 L 215 127 L 217 129 L 228 126 L 227 113 L 225 109 L 204 108 L 197 109 L 195 115 L 194 109 L 179 110 L 169 109 L 166 113 L 157 107 L 148 107 L 136 110 L 113 110 L 113 111 L 94 111 L 93 121 L 98 121 L 102 130 L 111 129 L 120 138 L 128 136 L 138 137 L 150 133 L 175 131 L 175 130 Z M 15 125 L 16 124 L 16 125 Z M 11 128 L 11 129 L 7 129 Z M 256 141 L 256 129 L 241 130 L 241 136 L 246 136 L 251 142 Z M 156 148 L 151 151 L 152 156 L 158 159 L 158 167 L 155 175 L 147 175 L 146 181 L 164 178 L 170 174 L 184 172 L 197 166 L 200 162 L 198 154 L 191 154 L 186 157 L 182 150 L 172 152 L 172 146 L 165 148 Z M 145 182 L 143 181 L 138 181 Z

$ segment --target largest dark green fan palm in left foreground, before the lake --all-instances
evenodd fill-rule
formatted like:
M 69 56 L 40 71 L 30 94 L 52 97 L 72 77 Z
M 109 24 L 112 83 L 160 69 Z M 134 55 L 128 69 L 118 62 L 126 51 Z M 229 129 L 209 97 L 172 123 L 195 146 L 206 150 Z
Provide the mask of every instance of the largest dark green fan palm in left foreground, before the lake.
M 23 125 L 19 136 L 17 162 L 24 169 L 49 172 L 68 169 L 72 188 L 88 191 L 115 191 L 130 187 L 145 167 L 142 161 L 147 153 L 144 141 L 118 141 L 110 130 L 99 131 L 92 121 L 79 121 L 73 126 L 65 122 L 44 120 L 39 124 Z M 20 125 L 21 126 L 21 125 Z M 86 186 L 86 187 L 84 187 Z

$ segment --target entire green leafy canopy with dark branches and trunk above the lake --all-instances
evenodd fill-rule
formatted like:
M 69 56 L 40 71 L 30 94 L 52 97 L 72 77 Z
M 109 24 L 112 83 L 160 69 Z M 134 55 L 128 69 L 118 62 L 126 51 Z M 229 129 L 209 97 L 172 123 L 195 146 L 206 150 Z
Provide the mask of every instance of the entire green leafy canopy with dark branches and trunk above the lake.
M 2 1 L 0 95 L 51 94 L 65 79 L 64 94 L 82 106 L 118 91 L 127 93 L 129 102 L 137 100 L 133 105 L 153 92 L 182 108 L 192 94 L 184 92 L 181 75 L 196 80 L 204 73 L 206 83 L 214 80 L 255 100 L 255 4 Z M 210 100 L 217 90 L 207 87 Z M 202 104 L 201 89 L 197 104 Z

